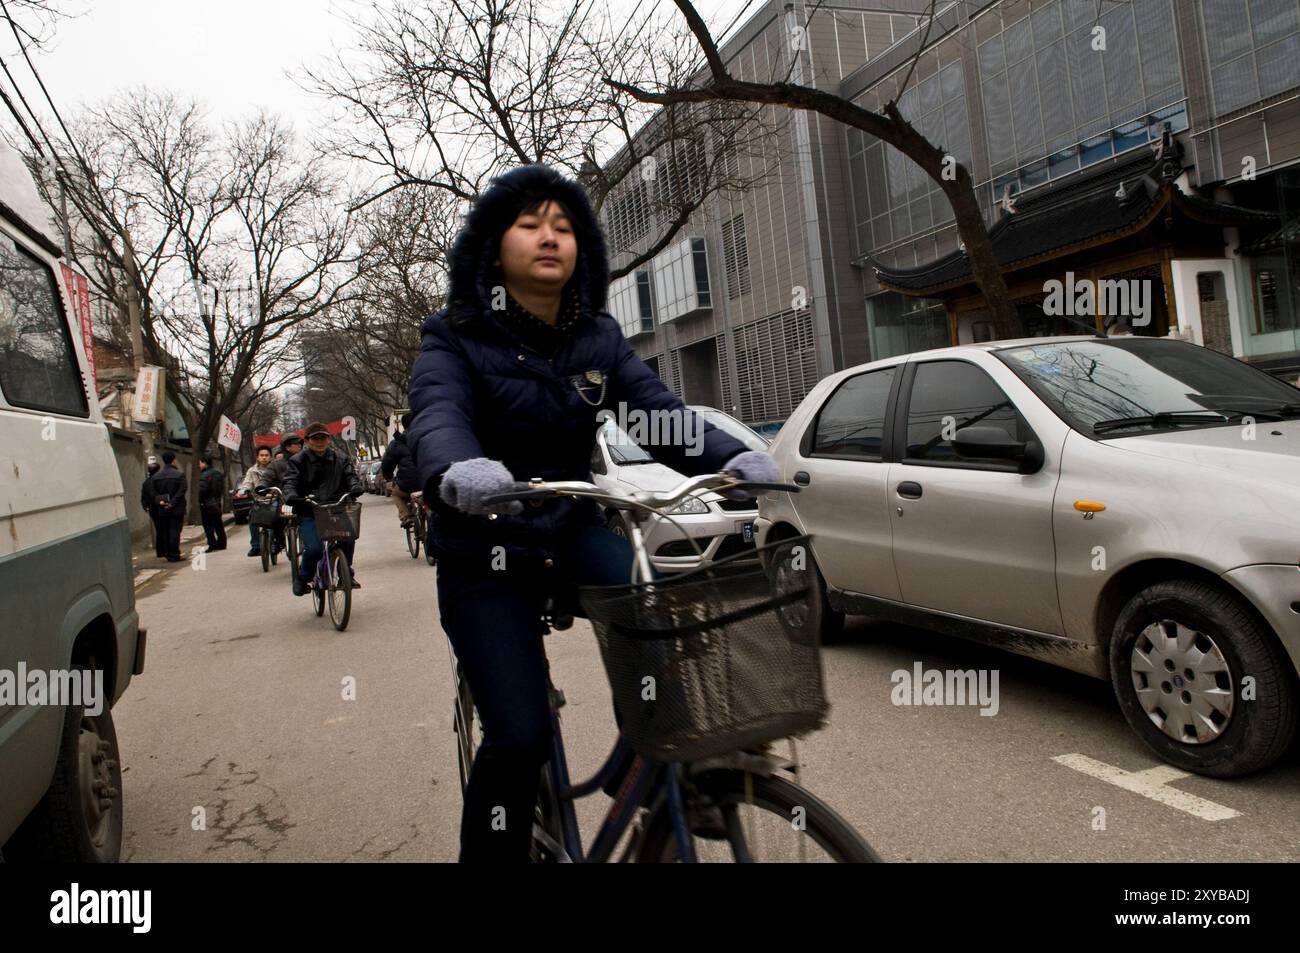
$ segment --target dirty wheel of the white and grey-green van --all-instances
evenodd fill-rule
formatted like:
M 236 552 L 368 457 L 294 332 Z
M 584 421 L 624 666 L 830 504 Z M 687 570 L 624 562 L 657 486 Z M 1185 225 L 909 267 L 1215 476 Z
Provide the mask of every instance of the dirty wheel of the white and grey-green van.
M 98 715 L 69 705 L 55 777 L 4 845 L 4 857 L 20 862 L 116 863 L 121 852 L 122 766 L 108 699 Z

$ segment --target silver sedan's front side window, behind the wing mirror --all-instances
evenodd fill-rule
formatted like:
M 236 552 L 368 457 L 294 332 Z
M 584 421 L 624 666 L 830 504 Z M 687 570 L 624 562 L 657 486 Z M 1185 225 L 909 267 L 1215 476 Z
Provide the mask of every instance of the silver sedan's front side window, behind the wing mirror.
M 907 406 L 904 459 L 979 463 L 976 458 L 959 456 L 953 449 L 957 430 L 975 425 L 1001 428 L 1013 439 L 1030 437 L 1015 404 L 983 368 L 963 360 L 918 364 Z

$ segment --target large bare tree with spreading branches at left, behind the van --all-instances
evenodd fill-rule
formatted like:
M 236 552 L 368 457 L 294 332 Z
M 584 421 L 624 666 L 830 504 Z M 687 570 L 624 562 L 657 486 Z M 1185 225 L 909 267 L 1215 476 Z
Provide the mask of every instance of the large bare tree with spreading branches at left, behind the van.
M 168 369 L 202 452 L 246 389 L 295 376 L 298 328 L 346 299 L 342 186 L 278 120 L 218 134 L 166 92 L 126 94 L 75 127 L 84 174 L 65 183 L 95 241 L 73 254 L 124 315 L 138 300 L 144 356 Z

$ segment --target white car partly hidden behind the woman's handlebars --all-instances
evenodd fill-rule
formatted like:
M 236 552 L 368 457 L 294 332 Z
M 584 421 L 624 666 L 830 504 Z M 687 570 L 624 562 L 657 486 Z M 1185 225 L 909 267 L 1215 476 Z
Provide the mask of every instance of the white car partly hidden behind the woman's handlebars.
M 768 442 L 728 413 L 714 407 L 692 407 L 710 424 L 750 450 L 767 450 Z M 658 463 L 612 420 L 601 425 L 592 451 L 592 482 L 602 489 L 667 490 L 685 477 Z M 734 501 L 716 493 L 693 497 L 673 510 L 670 519 L 651 517 L 645 525 L 650 563 L 658 572 L 685 572 L 714 559 L 754 549 L 758 503 Z M 608 515 L 608 525 L 625 536 L 623 516 Z

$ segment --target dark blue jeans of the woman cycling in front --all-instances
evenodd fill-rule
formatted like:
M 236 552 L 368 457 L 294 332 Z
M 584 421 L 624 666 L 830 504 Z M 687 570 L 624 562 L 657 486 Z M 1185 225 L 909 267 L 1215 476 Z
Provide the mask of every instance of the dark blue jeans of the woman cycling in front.
M 462 862 L 528 862 L 551 723 L 540 619 L 549 594 L 630 581 L 632 546 L 601 525 L 556 547 L 554 566 L 438 559 L 438 608 L 482 719 L 460 818 Z M 575 603 L 576 605 L 576 603 Z M 504 827 L 502 827 L 504 824 Z

